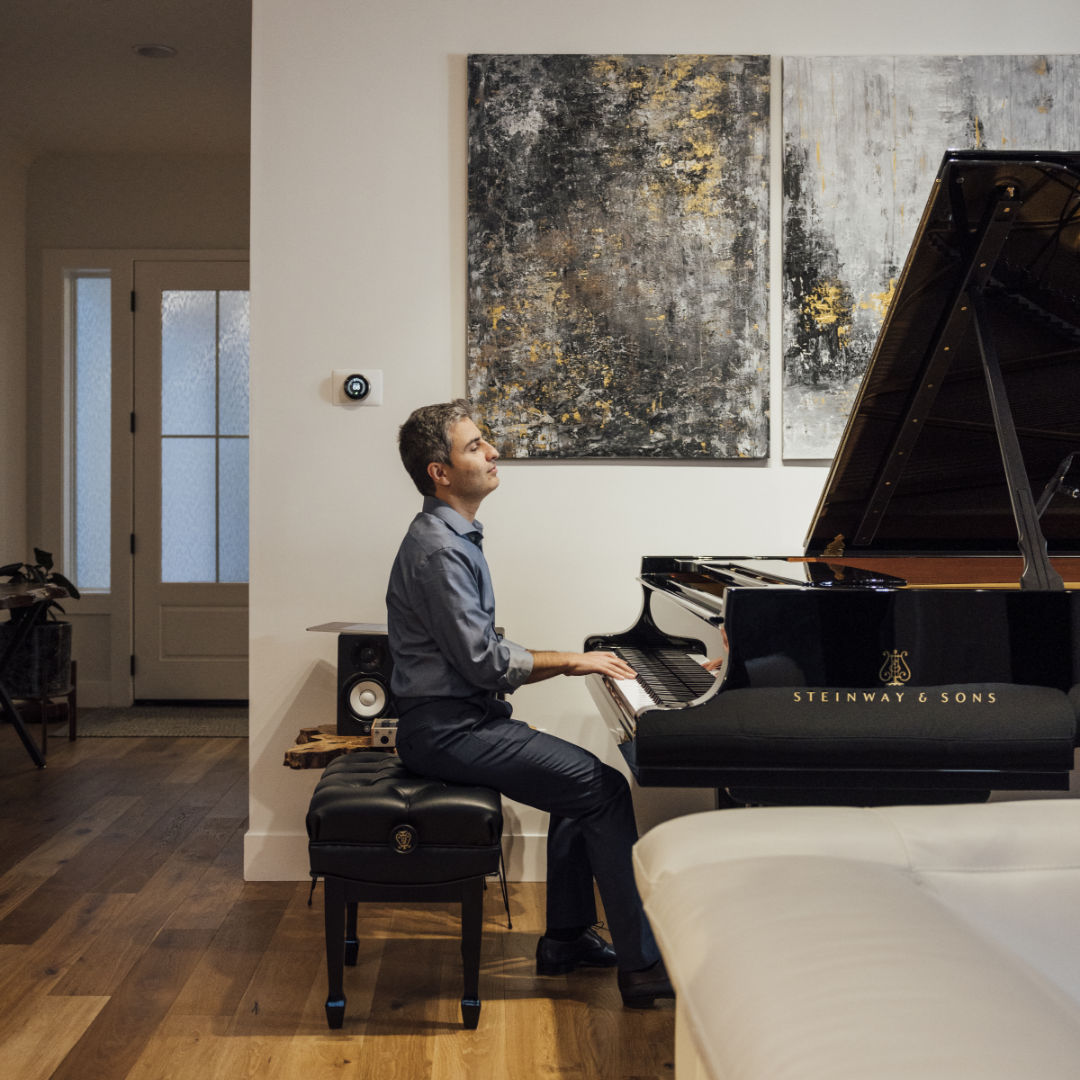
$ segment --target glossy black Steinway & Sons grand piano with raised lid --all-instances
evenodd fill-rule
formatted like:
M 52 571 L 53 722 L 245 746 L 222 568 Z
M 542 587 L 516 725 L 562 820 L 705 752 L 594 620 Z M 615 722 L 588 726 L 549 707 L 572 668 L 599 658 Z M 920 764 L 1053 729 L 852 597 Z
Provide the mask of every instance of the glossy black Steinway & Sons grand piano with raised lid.
M 648 556 L 637 622 L 585 642 L 638 673 L 591 677 L 638 782 L 721 805 L 1067 788 L 1074 455 L 1080 151 L 949 151 L 804 553 Z

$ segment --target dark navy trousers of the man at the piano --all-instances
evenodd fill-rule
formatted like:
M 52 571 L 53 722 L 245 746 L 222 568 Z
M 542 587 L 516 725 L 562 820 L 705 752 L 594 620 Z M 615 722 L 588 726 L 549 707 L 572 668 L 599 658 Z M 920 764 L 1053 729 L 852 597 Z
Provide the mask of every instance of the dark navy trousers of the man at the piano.
M 407 768 L 448 783 L 494 787 L 551 814 L 549 927 L 596 921 L 595 878 L 619 967 L 635 971 L 659 959 L 634 881 L 637 825 L 621 772 L 512 719 L 509 702 L 495 698 L 406 698 L 397 710 L 397 755 Z

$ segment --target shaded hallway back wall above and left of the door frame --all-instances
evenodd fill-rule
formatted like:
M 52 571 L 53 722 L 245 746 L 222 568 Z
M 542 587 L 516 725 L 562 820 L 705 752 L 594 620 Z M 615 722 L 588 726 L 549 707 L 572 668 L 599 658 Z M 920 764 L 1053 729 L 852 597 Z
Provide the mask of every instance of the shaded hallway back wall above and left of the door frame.
M 21 279 L 28 372 L 21 416 L 31 418 L 29 434 L 24 434 L 28 455 L 22 474 L 29 476 L 29 485 L 23 529 L 28 546 L 53 552 L 62 569 L 62 396 L 57 379 L 63 364 L 58 356 L 43 355 L 42 342 L 49 337 L 54 348 L 62 350 L 63 338 L 57 333 L 43 333 L 43 253 L 57 248 L 243 251 L 248 240 L 248 165 L 246 154 L 50 153 L 39 157 L 30 167 Z M 94 265 L 104 266 L 100 261 Z M 51 272 L 56 280 L 50 282 L 50 288 L 57 289 L 59 271 L 53 266 Z M 59 318 L 58 307 L 57 302 L 51 309 L 54 319 Z M 55 332 L 56 327 L 50 329 Z M 123 599 L 129 600 L 127 593 Z M 130 643 L 122 650 L 110 648 L 114 629 L 111 600 L 110 596 L 93 596 L 65 605 L 73 627 L 72 653 L 79 661 L 80 705 L 129 701 L 126 697 L 116 700 L 114 671 L 110 680 L 110 669 L 125 664 L 130 652 Z

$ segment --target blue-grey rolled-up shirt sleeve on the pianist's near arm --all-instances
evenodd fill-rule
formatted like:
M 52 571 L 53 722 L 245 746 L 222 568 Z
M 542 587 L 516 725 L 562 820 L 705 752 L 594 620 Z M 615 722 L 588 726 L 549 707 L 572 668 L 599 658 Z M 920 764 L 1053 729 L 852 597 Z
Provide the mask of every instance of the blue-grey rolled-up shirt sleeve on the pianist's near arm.
M 433 552 L 418 567 L 410 597 L 438 650 L 462 678 L 509 693 L 532 672 L 532 653 L 495 632 L 481 602 L 478 569 L 455 548 Z

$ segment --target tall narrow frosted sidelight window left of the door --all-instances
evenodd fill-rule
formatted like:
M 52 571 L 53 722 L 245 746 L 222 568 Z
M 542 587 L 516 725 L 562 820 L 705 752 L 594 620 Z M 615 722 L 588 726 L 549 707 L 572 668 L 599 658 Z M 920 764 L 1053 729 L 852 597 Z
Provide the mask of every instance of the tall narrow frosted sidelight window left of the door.
M 75 578 L 109 588 L 112 497 L 112 283 L 76 278 Z

